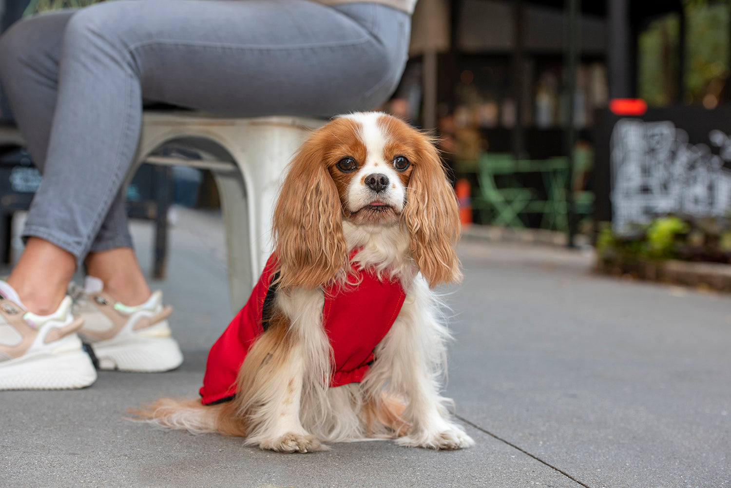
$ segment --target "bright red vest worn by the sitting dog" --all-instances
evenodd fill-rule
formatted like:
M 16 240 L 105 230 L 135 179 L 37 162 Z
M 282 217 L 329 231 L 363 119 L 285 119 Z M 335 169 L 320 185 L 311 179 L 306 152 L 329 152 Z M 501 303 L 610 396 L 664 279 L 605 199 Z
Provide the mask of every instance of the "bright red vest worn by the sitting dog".
M 249 301 L 238 312 L 208 353 L 208 362 L 200 388 L 202 403 L 232 397 L 236 393 L 236 375 L 246 353 L 262 334 L 262 309 L 267 296 L 276 258 L 270 256 Z M 380 281 L 369 271 L 356 270 L 360 285 L 350 290 L 325 290 L 322 321 L 333 347 L 333 376 L 330 386 L 342 386 L 363 380 L 373 350 L 393 326 L 406 293 L 400 282 Z

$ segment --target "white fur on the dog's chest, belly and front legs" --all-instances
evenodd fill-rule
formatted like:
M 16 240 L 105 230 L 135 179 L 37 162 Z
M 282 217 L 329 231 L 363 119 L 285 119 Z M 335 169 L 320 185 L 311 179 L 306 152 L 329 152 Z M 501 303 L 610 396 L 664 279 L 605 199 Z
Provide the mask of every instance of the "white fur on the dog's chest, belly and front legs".
M 279 306 L 298 331 L 300 349 L 287 367 L 286 378 L 272 384 L 272 391 L 284 388 L 296 378 L 303 385 L 299 421 L 294 420 L 294 405 L 284 408 L 276 402 L 266 413 L 272 421 L 287 412 L 281 424 L 247 439 L 269 448 L 271 440 L 285 434 L 317 435 L 321 440 L 340 442 L 363 438 L 365 426 L 359 416 L 366 398 L 378 398 L 381 391 L 408 399 L 406 421 L 412 425 L 409 435 L 398 438 L 403 446 L 428 448 L 463 448 L 474 442 L 463 429 L 450 420 L 450 400 L 440 396 L 441 380 L 446 372 L 446 346 L 450 338 L 439 313 L 439 299 L 425 280 L 417 275 L 408 255 L 408 238 L 399 225 L 373 228 L 344 225 L 349 247 L 362 247 L 354 261 L 380 270 L 385 279 L 401 279 L 406 300 L 385 339 L 376 347 L 376 361 L 363 383 L 329 388 L 330 345 L 322 329 L 322 289 L 279 299 Z M 301 362 L 304 361 L 304 364 Z M 274 397 L 275 395 L 273 395 Z M 274 398 L 273 398 L 274 399 Z M 298 399 L 296 399 L 298 400 Z M 295 400 L 295 401 L 296 401 Z M 286 401 L 289 401 L 287 397 Z M 288 430 L 289 429 L 289 430 Z M 287 432 L 285 432 L 287 431 Z

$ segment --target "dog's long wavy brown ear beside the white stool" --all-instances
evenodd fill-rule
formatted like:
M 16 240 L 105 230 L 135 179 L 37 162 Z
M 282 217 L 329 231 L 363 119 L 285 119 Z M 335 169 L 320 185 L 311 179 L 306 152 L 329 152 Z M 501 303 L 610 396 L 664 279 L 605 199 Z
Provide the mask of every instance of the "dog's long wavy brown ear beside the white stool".
M 317 135 L 289 163 L 274 209 L 279 286 L 285 289 L 317 288 L 347 263 L 340 198 Z

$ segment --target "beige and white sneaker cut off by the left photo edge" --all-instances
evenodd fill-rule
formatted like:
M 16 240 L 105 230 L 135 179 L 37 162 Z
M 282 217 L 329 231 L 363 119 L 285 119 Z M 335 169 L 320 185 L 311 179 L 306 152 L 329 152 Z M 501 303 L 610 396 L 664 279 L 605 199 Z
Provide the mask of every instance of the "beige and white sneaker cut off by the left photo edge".
M 0 390 L 84 388 L 96 369 L 76 331 L 83 320 L 67 296 L 51 315 L 28 312 L 15 290 L 0 282 Z

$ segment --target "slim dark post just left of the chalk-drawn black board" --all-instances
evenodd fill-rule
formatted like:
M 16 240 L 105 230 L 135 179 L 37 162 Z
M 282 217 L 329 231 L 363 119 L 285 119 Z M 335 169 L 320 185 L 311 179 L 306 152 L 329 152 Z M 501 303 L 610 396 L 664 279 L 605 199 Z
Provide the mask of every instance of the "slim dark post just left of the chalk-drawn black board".
M 574 126 L 574 97 L 576 94 L 576 67 L 579 53 L 579 1 L 567 0 L 567 42 L 566 42 L 566 154 L 568 159 L 566 179 L 566 218 L 568 223 L 567 237 L 569 247 L 574 247 L 576 236 L 576 218 L 574 211 L 574 146 L 576 129 Z

